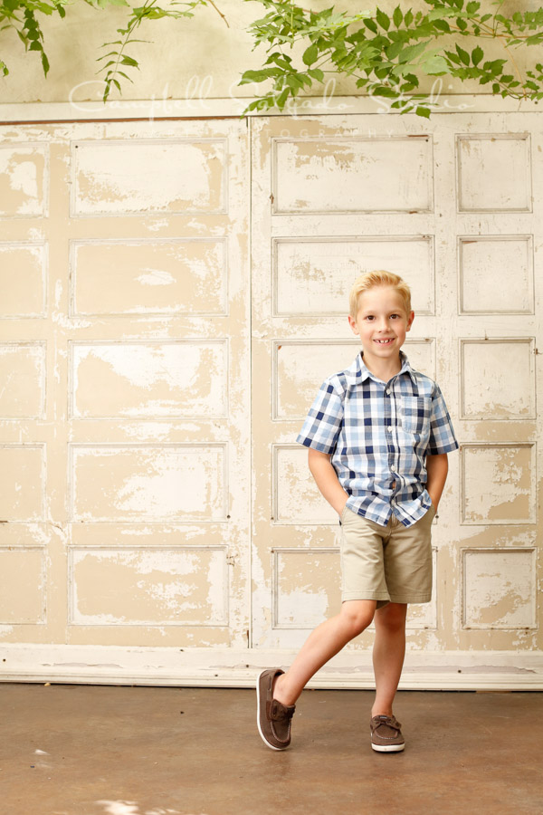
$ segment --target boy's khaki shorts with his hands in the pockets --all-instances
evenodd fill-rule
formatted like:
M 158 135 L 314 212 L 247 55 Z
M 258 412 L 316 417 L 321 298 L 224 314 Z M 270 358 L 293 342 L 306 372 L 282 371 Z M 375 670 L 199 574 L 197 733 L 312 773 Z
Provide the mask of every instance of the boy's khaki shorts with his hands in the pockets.
M 433 506 L 411 526 L 386 526 L 345 507 L 341 513 L 341 599 L 427 603 L 432 596 Z

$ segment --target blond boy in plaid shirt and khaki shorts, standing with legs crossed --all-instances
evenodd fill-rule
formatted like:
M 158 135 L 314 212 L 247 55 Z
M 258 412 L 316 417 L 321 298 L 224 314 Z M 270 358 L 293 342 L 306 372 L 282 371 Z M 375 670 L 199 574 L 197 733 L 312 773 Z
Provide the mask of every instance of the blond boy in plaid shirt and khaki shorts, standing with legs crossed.
M 376 698 L 371 746 L 404 750 L 392 705 L 405 656 L 407 603 L 432 593 L 431 524 L 458 443 L 440 388 L 411 369 L 401 351 L 414 321 L 411 292 L 397 274 L 363 274 L 348 322 L 362 351 L 319 390 L 297 441 L 342 527 L 342 604 L 310 634 L 289 670 L 262 671 L 257 724 L 264 743 L 284 750 L 303 687 L 375 619 Z

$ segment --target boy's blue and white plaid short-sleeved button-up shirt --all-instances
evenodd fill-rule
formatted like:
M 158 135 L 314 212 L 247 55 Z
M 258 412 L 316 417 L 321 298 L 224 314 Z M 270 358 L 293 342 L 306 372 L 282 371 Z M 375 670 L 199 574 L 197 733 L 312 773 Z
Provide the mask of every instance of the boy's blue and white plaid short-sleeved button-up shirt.
M 432 505 L 425 488 L 425 455 L 456 450 L 439 386 L 413 370 L 377 379 L 362 354 L 320 387 L 296 441 L 331 454 L 348 508 L 386 526 L 392 513 L 411 526 Z

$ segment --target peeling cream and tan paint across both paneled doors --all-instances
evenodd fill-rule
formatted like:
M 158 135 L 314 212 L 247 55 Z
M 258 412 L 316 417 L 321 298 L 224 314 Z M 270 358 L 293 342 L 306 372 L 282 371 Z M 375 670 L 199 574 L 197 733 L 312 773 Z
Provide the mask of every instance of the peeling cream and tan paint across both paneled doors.
M 437 593 L 410 609 L 409 648 L 518 650 L 519 664 L 540 649 L 540 213 L 522 174 L 535 136 L 487 138 L 524 121 L 509 114 L 390 119 L 252 120 L 252 175 L 237 121 L 5 132 L 35 143 L 0 149 L 2 341 L 17 349 L 0 355 L 3 640 L 247 647 L 250 580 L 254 647 L 299 647 L 336 613 L 338 519 L 293 438 L 356 352 L 352 278 L 390 267 L 413 291 L 405 350 L 440 382 L 466 451 L 450 456 Z M 458 268 L 443 264 L 456 250 Z M 43 361 L 28 350 L 42 341 Z M 346 674 L 373 636 L 349 646 Z

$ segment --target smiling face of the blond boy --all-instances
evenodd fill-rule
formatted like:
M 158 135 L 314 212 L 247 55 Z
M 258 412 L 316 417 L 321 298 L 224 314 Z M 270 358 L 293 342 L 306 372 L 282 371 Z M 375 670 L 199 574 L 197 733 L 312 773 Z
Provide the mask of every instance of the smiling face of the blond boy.
M 356 319 L 348 316 L 351 329 L 362 340 L 366 364 L 399 359 L 413 321 L 414 312 L 405 312 L 404 301 L 392 286 L 374 286 L 362 292 Z

